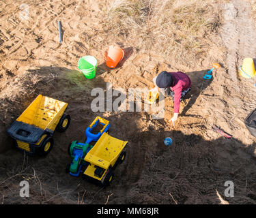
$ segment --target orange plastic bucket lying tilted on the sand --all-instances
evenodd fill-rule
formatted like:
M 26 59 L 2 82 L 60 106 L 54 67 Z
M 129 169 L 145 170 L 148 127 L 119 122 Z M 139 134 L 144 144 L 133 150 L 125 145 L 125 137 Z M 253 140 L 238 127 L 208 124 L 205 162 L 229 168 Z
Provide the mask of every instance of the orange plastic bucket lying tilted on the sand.
M 124 50 L 119 46 L 109 46 L 106 51 L 106 65 L 110 68 L 115 68 L 117 64 L 124 58 Z

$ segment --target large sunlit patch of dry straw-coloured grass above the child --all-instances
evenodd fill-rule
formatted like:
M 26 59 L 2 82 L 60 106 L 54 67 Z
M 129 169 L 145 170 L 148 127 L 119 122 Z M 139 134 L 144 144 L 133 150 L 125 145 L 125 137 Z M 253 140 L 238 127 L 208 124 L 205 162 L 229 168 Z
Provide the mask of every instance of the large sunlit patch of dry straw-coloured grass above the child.
M 212 0 L 112 1 L 104 30 L 128 44 L 153 50 L 168 60 L 193 63 L 206 55 L 208 37 L 219 27 Z

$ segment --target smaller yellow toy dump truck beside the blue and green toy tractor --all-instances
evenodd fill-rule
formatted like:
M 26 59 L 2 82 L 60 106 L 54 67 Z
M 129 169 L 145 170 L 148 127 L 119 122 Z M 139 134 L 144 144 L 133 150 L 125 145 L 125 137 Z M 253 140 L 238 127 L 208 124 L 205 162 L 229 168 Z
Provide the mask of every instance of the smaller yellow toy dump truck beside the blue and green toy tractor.
M 123 151 L 128 141 L 122 141 L 109 134 L 102 134 L 94 147 L 85 155 L 83 178 L 100 185 L 109 185 L 113 181 L 114 170 L 126 157 Z

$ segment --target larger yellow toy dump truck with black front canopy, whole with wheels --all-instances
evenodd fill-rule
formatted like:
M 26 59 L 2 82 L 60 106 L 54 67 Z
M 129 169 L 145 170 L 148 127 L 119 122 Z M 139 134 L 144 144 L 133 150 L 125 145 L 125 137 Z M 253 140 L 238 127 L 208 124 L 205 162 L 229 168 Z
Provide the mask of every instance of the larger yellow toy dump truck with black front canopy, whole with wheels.
M 8 129 L 18 149 L 32 155 L 47 155 L 53 148 L 55 129 L 66 131 L 70 116 L 64 114 L 68 104 L 38 95 Z

